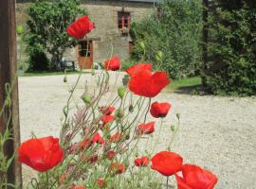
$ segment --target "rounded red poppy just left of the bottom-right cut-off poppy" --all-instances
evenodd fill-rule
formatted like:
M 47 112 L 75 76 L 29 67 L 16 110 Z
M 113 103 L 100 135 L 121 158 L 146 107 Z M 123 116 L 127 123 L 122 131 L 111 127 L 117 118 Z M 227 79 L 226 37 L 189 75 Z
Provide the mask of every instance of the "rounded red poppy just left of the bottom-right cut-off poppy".
M 164 176 L 172 176 L 181 170 L 183 159 L 171 151 L 161 151 L 152 158 L 152 169 Z

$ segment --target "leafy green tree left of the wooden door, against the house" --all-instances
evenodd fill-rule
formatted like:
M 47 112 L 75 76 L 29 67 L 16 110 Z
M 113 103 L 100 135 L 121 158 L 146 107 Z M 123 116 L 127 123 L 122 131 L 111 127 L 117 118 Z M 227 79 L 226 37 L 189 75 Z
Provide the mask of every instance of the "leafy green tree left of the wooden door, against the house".
M 26 41 L 32 64 L 36 63 L 33 61 L 35 59 L 47 63 L 44 55 L 46 52 L 51 57 L 49 69 L 59 68 L 64 50 L 76 43 L 66 34 L 66 27 L 85 13 L 79 5 L 80 0 L 37 0 L 27 9 L 30 20 L 27 21 L 29 33 Z M 45 69 L 47 66 L 42 67 Z M 41 66 L 31 65 L 30 68 Z

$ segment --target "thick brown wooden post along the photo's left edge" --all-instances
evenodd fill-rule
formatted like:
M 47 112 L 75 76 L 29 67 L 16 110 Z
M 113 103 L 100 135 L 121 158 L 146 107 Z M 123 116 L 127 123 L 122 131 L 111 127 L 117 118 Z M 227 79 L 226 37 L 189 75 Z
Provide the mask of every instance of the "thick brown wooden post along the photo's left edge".
M 18 78 L 17 78 L 17 52 L 16 52 L 16 19 L 15 0 L 0 0 L 0 108 L 3 107 L 6 94 L 5 84 L 13 85 L 11 91 L 11 120 L 9 129 L 13 140 L 9 140 L 4 153 L 11 157 L 20 145 L 19 128 L 19 101 L 18 101 Z M 0 117 L 0 131 L 6 129 L 7 113 Z M 22 188 L 21 165 L 17 161 L 9 167 L 8 181 Z

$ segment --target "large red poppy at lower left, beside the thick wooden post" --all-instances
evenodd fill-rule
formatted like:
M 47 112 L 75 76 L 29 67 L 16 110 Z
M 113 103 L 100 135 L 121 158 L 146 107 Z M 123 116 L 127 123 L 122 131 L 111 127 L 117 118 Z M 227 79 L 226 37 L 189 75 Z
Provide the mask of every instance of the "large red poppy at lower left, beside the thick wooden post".
M 64 150 L 59 139 L 52 136 L 29 139 L 18 148 L 18 160 L 33 169 L 45 172 L 64 160 Z

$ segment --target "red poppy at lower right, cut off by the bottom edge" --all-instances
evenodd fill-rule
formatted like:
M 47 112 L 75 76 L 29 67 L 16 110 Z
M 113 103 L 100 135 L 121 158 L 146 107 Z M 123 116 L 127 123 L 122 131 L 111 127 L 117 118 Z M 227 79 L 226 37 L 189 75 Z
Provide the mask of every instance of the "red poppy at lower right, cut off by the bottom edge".
M 213 189 L 218 179 L 208 170 L 193 164 L 184 164 L 182 176 L 175 174 L 178 189 Z

